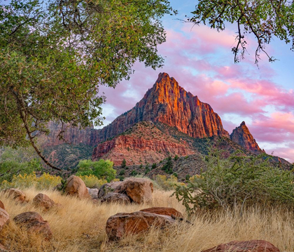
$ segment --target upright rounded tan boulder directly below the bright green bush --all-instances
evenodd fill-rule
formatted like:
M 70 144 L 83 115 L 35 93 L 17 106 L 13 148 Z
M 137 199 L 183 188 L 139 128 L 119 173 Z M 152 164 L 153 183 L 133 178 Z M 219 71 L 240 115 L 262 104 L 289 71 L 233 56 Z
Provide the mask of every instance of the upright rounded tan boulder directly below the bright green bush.
M 87 191 L 87 187 L 85 186 L 85 183 L 83 182 L 83 180 L 81 180 L 75 175 L 71 175 L 66 180 L 65 192 L 66 194 L 76 196 L 80 199 L 90 198 L 90 194 Z

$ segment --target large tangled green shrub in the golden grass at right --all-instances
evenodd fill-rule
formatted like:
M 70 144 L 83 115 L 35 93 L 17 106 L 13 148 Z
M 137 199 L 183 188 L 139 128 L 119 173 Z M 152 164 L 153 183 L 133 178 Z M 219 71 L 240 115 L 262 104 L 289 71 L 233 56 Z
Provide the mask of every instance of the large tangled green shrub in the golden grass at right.
M 176 197 L 189 213 L 199 208 L 294 206 L 294 175 L 272 166 L 267 156 L 248 157 L 241 152 L 223 158 L 221 151 L 205 158 L 207 171 L 190 178 L 187 187 L 176 187 Z

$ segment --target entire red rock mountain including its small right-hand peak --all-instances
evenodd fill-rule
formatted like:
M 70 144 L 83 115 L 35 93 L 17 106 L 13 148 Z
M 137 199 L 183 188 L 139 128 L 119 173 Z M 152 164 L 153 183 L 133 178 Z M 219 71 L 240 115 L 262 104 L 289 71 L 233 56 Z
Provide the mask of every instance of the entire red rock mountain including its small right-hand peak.
M 264 152 L 245 122 L 229 135 L 221 117 L 196 95 L 185 91 L 169 74 L 160 73 L 144 98 L 128 112 L 102 129 L 68 128 L 59 140 L 59 124 L 49 124 L 45 137 L 45 155 L 59 166 L 76 166 L 80 159 L 111 159 L 128 166 L 159 163 L 175 155 L 205 154 L 209 140 L 225 138 L 226 149 Z

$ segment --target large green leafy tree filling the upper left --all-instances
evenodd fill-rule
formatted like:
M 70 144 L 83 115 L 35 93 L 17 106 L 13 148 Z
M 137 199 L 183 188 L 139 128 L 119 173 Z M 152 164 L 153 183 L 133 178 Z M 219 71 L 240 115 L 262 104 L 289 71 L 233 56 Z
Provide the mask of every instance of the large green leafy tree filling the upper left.
M 2 2 L 0 0 L 0 2 Z M 48 121 L 102 124 L 104 95 L 136 60 L 160 67 L 167 0 L 12 0 L 0 6 L 0 145 L 34 147 Z

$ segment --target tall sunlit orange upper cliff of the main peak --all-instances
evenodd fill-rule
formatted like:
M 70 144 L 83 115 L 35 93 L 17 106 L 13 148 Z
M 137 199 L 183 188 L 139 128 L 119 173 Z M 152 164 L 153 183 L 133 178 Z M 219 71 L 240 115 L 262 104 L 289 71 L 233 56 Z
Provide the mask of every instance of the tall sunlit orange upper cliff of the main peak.
M 207 103 L 186 92 L 174 78 L 160 73 L 158 80 L 129 112 L 122 114 L 99 133 L 100 141 L 123 133 L 139 121 L 153 121 L 176 127 L 193 138 L 229 134 L 221 118 Z

